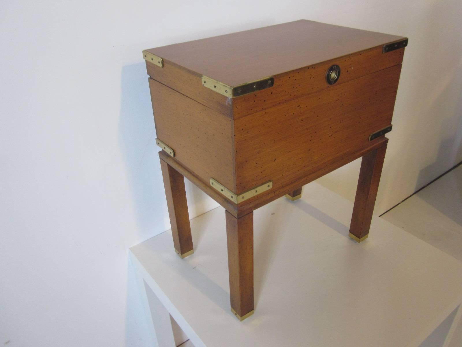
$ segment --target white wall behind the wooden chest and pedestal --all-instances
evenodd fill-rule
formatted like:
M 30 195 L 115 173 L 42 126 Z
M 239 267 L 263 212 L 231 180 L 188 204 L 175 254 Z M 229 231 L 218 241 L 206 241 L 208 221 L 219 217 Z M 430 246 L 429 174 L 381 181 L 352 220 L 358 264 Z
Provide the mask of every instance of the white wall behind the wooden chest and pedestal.
M 408 36 L 380 212 L 462 160 L 460 15 L 460 0 L 2 1 L 0 344 L 150 344 L 127 250 L 169 221 L 141 50 L 302 18 Z M 358 170 L 321 182 L 352 198 Z M 188 198 L 191 217 L 216 206 Z

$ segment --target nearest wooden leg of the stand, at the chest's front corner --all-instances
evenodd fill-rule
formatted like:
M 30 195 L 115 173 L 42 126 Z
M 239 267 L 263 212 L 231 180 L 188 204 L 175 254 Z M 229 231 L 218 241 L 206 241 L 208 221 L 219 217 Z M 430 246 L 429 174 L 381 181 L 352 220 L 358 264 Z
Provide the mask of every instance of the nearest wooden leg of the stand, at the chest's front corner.
M 243 321 L 254 313 L 254 212 L 226 211 L 231 311 Z

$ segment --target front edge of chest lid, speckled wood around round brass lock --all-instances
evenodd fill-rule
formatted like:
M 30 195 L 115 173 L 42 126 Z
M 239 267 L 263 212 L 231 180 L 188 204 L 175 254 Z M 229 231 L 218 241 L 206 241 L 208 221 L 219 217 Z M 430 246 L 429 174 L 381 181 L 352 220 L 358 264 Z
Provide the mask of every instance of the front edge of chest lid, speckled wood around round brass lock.
M 404 48 L 388 53 L 382 53 L 382 48 L 383 46 L 371 48 L 276 75 L 273 87 L 233 99 L 233 117 L 235 119 L 245 117 L 292 99 L 338 87 L 342 83 L 401 64 Z M 340 77 L 334 85 L 329 85 L 326 82 L 326 72 L 334 64 L 340 66 Z

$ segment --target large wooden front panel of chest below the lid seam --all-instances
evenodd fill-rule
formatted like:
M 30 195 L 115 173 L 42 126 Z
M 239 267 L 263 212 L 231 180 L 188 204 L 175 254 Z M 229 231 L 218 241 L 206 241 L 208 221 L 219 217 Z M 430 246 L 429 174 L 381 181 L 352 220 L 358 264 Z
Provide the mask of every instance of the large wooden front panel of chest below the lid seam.
M 235 119 L 236 189 L 273 189 L 371 145 L 391 124 L 401 64 Z M 379 141 L 380 138 L 373 141 Z

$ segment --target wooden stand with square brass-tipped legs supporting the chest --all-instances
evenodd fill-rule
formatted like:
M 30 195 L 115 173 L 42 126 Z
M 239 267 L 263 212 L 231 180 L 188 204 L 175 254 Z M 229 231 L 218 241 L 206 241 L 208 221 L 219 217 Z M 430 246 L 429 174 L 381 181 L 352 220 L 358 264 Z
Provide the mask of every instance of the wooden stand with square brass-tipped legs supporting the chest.
M 226 209 L 231 311 L 242 321 L 254 312 L 253 211 L 283 195 L 291 200 L 300 198 L 301 186 L 362 156 L 349 235 L 357 242 L 365 240 L 369 235 L 387 143 L 386 137 L 378 139 L 368 148 L 336 158 L 329 165 L 318 168 L 284 189 L 262 193 L 242 205 L 228 200 L 174 158 L 159 152 L 176 253 L 181 258 L 194 253 L 184 188 L 185 176 Z

